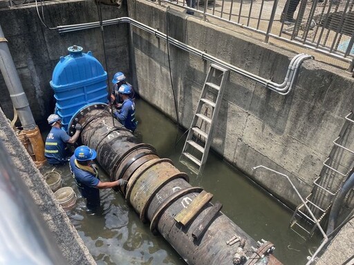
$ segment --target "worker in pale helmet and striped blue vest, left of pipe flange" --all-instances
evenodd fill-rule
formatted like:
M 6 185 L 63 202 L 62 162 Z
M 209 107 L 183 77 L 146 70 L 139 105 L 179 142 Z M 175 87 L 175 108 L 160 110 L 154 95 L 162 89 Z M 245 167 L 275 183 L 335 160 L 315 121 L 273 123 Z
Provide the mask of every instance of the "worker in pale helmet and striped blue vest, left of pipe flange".
M 44 149 L 44 157 L 46 157 L 49 164 L 53 166 L 66 164 L 68 162 L 68 151 L 66 144 L 75 144 L 79 138 L 81 124 L 75 125 L 75 134 L 70 137 L 64 130 L 62 130 L 62 119 L 56 114 L 49 115 L 48 124 L 52 129 L 46 138 L 46 146 Z

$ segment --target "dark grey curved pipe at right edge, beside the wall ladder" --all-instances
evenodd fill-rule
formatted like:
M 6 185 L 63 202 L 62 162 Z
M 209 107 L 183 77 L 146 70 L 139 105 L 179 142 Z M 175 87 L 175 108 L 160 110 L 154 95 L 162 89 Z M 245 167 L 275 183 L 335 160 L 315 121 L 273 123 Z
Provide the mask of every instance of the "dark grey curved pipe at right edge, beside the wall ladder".
M 335 229 L 335 222 L 337 221 L 337 217 L 339 214 L 339 210 L 342 207 L 342 203 L 347 193 L 351 191 L 354 187 L 354 173 L 344 182 L 342 188 L 339 190 L 335 200 L 332 204 L 332 208 L 330 209 L 330 215 L 328 217 L 328 226 L 326 234 L 330 235 Z

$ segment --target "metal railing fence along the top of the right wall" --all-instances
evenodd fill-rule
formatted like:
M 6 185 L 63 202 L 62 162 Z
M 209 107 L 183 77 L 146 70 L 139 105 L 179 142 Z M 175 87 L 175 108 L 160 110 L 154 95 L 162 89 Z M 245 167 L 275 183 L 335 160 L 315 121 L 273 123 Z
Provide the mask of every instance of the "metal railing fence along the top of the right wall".
M 155 0 L 156 1 L 156 0 Z M 258 32 L 263 41 L 291 43 L 341 61 L 353 71 L 354 0 L 157 0 L 188 14 L 216 17 Z M 329 60 L 328 60 L 329 59 Z M 337 64 L 338 63 L 333 63 Z

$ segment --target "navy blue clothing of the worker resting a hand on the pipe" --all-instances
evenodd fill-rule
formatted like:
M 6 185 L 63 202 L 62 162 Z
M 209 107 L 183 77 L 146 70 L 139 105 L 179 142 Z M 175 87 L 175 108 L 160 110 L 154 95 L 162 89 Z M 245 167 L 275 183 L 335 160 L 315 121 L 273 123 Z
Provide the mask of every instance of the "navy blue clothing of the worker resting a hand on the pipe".
M 86 198 L 87 208 L 95 210 L 100 206 L 100 190 L 97 185 L 100 183 L 100 178 L 86 170 L 82 170 L 75 165 L 75 155 L 70 158 L 70 169 L 73 173 L 77 188 L 79 188 L 82 197 Z

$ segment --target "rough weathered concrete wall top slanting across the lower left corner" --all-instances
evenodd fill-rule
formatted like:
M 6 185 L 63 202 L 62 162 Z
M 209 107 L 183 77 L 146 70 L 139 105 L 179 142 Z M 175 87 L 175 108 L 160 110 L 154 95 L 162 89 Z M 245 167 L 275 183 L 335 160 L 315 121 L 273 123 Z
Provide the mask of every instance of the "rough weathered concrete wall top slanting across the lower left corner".
M 53 242 L 56 242 L 59 247 L 63 257 L 66 259 L 66 264 L 96 264 L 65 211 L 57 203 L 52 190 L 50 190 L 48 184 L 44 181 L 43 175 L 39 173 L 24 145 L 21 144 L 14 130 L 10 127 L 2 110 L 0 110 L 0 139 L 7 150 L 12 165 L 15 166 L 15 170 L 19 175 L 19 178 L 12 177 L 12 181 L 15 181 L 15 179 L 24 181 L 28 192 L 38 207 L 39 213 L 41 213 L 39 219 L 43 219 L 43 224 L 48 226 L 50 235 L 53 235 Z M 21 195 L 19 196 L 21 197 Z M 24 220 L 28 220 L 28 217 L 24 217 Z M 31 227 L 33 226 L 27 224 L 28 229 Z M 29 235 L 32 235 L 32 233 L 29 233 Z M 40 241 L 40 239 L 38 240 Z

